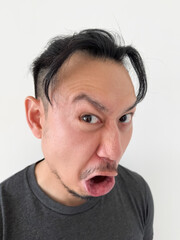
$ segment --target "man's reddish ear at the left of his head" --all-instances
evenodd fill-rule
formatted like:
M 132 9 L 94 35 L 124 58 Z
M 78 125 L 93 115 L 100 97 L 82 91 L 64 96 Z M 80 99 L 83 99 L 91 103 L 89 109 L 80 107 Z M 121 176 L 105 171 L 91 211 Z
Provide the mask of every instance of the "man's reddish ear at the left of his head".
M 25 99 L 26 119 L 28 125 L 35 137 L 42 137 L 42 117 L 44 109 L 42 102 L 34 97 L 27 97 Z

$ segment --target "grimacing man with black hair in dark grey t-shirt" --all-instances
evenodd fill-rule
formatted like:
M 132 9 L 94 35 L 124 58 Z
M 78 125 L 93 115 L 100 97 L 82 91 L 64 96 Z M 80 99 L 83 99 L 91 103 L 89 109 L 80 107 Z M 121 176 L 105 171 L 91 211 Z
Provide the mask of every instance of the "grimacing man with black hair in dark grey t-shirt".
M 1 184 L 1 239 L 152 239 L 149 187 L 118 165 L 146 94 L 138 52 L 89 29 L 53 39 L 32 69 L 26 116 L 44 159 Z

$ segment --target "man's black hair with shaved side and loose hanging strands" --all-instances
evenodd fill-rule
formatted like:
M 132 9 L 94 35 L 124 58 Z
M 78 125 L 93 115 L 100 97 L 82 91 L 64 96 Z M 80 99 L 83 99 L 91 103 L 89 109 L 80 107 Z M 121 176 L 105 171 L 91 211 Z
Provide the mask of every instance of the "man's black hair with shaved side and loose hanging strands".
M 86 29 L 79 33 L 52 39 L 46 50 L 32 64 L 35 97 L 45 96 L 51 103 L 49 87 L 56 82 L 56 74 L 63 63 L 77 51 L 96 58 L 111 59 L 123 63 L 129 58 L 139 81 L 136 104 L 147 92 L 147 79 L 142 58 L 132 46 L 118 43 L 119 36 L 102 29 Z

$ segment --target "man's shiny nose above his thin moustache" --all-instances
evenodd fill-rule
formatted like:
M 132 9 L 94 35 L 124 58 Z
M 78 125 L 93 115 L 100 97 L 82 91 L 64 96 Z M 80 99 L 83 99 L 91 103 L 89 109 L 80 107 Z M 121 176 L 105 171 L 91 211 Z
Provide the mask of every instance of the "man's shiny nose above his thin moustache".
M 101 141 L 97 149 L 100 158 L 119 161 L 123 154 L 120 129 L 116 124 L 106 127 L 101 135 Z

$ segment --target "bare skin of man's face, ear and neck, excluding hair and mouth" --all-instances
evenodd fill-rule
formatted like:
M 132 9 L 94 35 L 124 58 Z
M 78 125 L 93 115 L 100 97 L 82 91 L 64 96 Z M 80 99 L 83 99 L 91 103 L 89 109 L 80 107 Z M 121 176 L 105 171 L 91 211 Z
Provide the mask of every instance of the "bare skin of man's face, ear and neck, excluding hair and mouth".
M 83 53 L 75 53 L 57 79 L 59 84 L 51 93 L 52 105 L 47 103 L 46 112 L 41 99 L 25 100 L 28 124 L 41 138 L 45 157 L 36 165 L 35 175 L 52 199 L 78 206 L 86 199 L 68 189 L 87 196 L 83 183 L 88 172 L 116 175 L 131 139 L 135 107 L 130 108 L 136 96 L 122 64 Z

